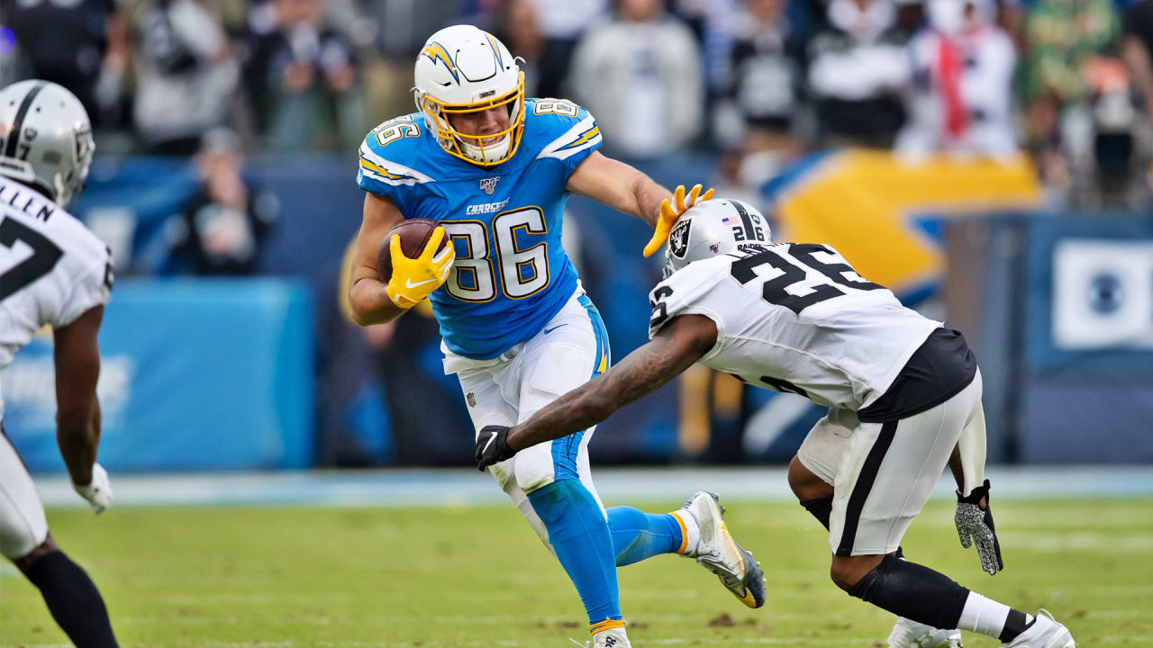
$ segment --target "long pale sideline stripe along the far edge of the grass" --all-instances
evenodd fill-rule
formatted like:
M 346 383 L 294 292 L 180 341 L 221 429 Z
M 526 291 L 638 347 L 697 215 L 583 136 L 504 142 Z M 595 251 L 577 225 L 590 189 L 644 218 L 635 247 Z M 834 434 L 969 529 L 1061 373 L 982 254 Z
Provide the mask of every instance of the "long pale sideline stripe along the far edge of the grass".
M 1153 497 L 1153 466 L 990 466 L 997 498 Z M 719 492 L 724 502 L 790 502 L 785 470 L 771 468 L 603 468 L 596 484 L 605 502 L 677 500 L 689 490 Z M 134 475 L 113 473 L 115 506 L 505 505 L 507 497 L 476 470 L 296 470 Z M 85 507 L 63 475 L 38 476 L 47 506 Z M 954 497 L 942 476 L 934 497 Z

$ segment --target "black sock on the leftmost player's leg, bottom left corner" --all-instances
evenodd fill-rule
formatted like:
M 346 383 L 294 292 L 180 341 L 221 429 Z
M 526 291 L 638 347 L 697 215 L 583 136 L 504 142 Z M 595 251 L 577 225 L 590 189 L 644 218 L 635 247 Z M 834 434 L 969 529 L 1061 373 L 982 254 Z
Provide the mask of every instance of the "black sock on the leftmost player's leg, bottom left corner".
M 40 589 L 52 618 L 76 648 L 116 648 L 112 623 L 96 583 L 63 551 L 37 558 L 28 580 Z

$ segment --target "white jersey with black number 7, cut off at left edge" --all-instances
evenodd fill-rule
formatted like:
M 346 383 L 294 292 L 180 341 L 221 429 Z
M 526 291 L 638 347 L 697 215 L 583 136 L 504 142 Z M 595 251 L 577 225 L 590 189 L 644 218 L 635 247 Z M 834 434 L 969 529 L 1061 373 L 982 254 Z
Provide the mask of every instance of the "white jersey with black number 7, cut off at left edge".
M 108 303 L 112 280 L 104 241 L 42 194 L 0 176 L 0 369 L 42 326 L 67 326 Z

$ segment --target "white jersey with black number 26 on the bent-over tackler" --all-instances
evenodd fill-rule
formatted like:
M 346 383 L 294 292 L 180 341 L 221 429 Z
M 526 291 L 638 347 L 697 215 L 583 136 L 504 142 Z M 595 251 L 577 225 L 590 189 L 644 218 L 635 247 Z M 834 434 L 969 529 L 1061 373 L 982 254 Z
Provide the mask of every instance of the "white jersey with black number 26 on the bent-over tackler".
M 775 243 L 686 265 L 649 295 L 651 338 L 678 315 L 716 323 L 698 362 L 858 410 L 880 398 L 941 322 L 910 310 L 829 246 Z

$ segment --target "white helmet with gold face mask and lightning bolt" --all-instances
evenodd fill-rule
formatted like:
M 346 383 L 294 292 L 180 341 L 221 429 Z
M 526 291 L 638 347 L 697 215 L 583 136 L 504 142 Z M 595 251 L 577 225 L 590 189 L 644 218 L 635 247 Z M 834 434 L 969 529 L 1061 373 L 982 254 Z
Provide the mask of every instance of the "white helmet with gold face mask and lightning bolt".
M 424 43 L 414 70 L 416 108 L 424 126 L 450 155 L 481 166 L 498 165 L 517 152 L 525 128 L 525 75 L 508 48 L 470 24 L 446 27 Z M 508 111 L 508 128 L 469 135 L 453 128 L 453 114 L 497 106 Z M 500 137 L 484 144 L 485 140 Z

